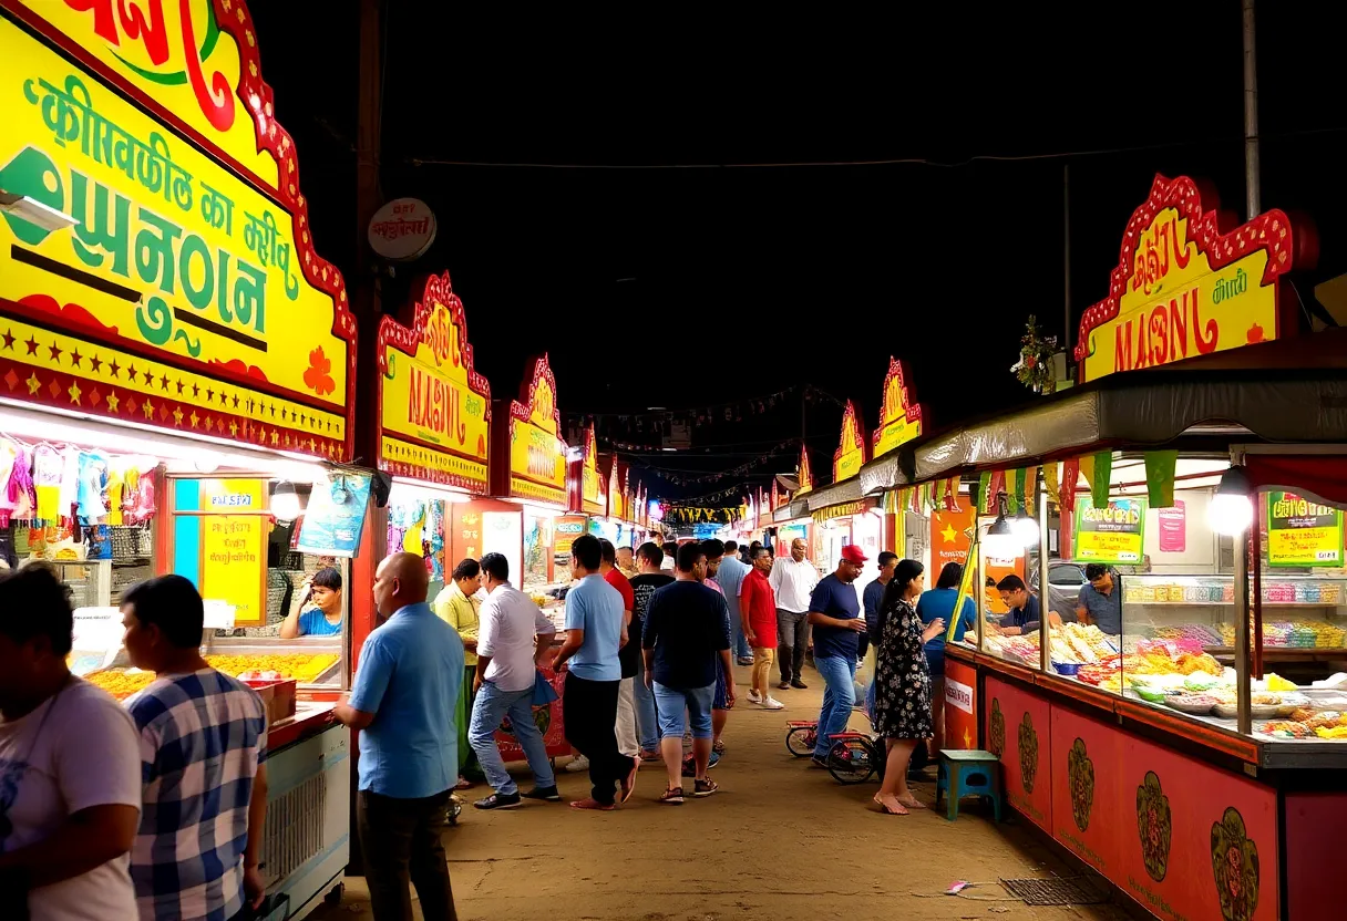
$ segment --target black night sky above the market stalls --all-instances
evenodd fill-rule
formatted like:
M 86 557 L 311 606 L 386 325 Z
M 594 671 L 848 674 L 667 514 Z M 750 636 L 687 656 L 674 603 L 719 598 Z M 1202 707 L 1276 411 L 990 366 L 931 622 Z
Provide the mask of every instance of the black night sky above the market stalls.
M 315 4 L 251 7 L 319 252 L 350 275 L 364 238 L 357 4 L 327 4 L 318 23 Z M 478 22 L 453 4 L 387 7 L 383 193 L 423 198 L 439 218 L 412 271 L 451 273 L 494 395 L 548 350 L 563 413 L 691 408 L 808 381 L 855 399 L 869 427 L 892 353 L 935 425 L 952 424 L 1028 397 L 1008 369 L 1030 312 L 1061 333 L 1064 164 L 1072 325 L 1103 296 L 1156 172 L 1212 180 L 1243 217 L 1235 0 L 1098 5 L 1107 19 L 1095 4 L 950 4 L 897 22 Z M 1305 299 L 1347 271 L 1344 24 L 1339 4 L 1259 4 L 1263 207 L 1319 225 Z M 907 158 L 956 166 L 434 163 Z M 816 471 L 839 419 L 827 401 L 811 409 Z M 696 432 L 733 448 L 657 463 L 729 467 L 799 431 L 787 405 Z

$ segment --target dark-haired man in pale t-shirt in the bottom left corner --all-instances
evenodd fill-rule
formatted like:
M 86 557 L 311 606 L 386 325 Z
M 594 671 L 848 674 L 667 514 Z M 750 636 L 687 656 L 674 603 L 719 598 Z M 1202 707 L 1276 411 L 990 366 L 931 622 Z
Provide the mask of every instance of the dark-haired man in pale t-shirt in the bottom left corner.
M 136 728 L 66 668 L 73 619 L 50 568 L 0 574 L 0 918 L 136 917 Z

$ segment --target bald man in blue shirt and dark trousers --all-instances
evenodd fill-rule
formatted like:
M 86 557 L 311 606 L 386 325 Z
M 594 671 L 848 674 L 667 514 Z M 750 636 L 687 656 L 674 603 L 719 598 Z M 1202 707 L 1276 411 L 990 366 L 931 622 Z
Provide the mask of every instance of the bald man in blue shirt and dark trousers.
M 412 917 L 408 879 L 423 917 L 458 917 L 439 836 L 458 781 L 463 641 L 435 617 L 426 588 L 422 557 L 393 553 L 379 564 L 374 603 L 388 619 L 365 640 L 350 700 L 334 711 L 360 730 L 356 819 L 376 921 Z

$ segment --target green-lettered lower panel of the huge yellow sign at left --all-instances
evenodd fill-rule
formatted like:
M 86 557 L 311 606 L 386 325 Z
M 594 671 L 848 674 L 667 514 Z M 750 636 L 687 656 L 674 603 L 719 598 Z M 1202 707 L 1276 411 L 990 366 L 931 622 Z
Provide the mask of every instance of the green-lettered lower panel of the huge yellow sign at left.
M 0 395 L 346 458 L 356 327 L 303 209 L 4 16 L 0 108 L 0 189 L 75 221 L 0 219 Z

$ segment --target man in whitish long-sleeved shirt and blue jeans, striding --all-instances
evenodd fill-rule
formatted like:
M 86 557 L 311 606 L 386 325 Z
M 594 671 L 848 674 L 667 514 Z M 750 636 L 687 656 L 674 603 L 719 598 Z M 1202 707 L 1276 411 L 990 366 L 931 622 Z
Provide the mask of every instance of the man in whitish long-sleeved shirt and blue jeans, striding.
M 508 809 L 517 807 L 521 798 L 560 803 L 547 745 L 533 722 L 537 660 L 551 648 L 556 627 L 532 598 L 509 583 L 509 560 L 504 555 L 488 553 L 481 567 L 486 601 L 477 614 L 475 699 L 467 741 L 477 753 L 486 782 L 496 792 L 473 805 L 478 809 Z M 519 747 L 533 772 L 533 789 L 528 793 L 519 792 L 496 746 L 496 730 L 505 716 L 509 716 Z

